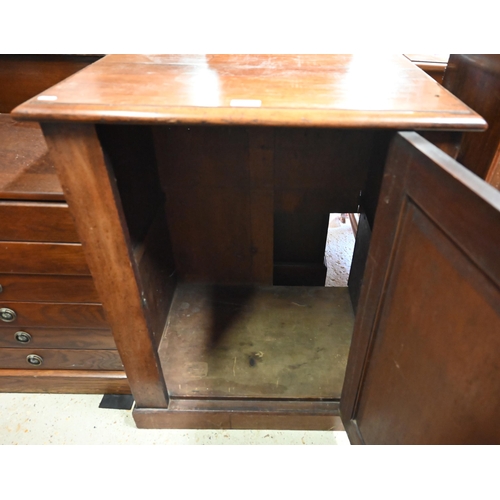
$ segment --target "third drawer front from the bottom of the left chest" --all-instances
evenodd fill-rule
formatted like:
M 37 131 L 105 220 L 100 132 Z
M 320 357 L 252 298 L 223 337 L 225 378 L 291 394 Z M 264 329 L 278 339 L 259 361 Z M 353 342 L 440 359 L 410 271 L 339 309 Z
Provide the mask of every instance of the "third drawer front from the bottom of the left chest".
M 109 328 L 100 304 L 0 302 L 0 308 L 14 311 L 0 314 L 0 327 Z

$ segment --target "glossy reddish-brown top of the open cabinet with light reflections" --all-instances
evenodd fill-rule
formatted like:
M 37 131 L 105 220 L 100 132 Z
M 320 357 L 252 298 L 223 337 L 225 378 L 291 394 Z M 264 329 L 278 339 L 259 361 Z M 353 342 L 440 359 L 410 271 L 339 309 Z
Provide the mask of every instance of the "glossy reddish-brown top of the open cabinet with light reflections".
M 403 55 L 109 55 L 12 114 L 100 123 L 486 128 Z

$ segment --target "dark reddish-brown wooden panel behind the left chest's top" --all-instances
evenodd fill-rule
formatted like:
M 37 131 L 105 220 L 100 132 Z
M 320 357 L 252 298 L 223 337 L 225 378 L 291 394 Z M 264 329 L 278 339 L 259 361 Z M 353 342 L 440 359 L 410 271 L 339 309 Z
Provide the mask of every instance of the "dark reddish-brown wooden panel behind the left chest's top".
M 0 113 L 52 87 L 100 59 L 98 55 L 0 55 Z

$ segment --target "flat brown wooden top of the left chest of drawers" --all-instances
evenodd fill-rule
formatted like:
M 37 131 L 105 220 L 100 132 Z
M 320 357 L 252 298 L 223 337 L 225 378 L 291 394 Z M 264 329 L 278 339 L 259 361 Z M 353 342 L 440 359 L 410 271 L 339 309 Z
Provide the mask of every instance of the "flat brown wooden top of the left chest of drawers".
M 38 123 L 0 114 L 0 199 L 64 201 Z

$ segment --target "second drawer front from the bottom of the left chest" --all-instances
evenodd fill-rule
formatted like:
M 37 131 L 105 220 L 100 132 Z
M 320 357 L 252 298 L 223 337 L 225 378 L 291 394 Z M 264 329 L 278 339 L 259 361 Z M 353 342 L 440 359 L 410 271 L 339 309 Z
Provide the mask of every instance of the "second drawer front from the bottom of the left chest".
M 111 330 L 88 328 L 0 328 L 0 348 L 116 349 Z

